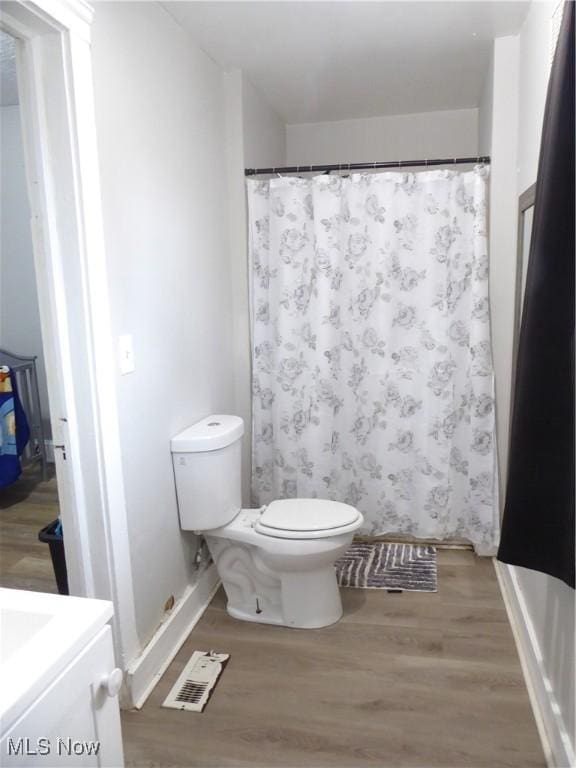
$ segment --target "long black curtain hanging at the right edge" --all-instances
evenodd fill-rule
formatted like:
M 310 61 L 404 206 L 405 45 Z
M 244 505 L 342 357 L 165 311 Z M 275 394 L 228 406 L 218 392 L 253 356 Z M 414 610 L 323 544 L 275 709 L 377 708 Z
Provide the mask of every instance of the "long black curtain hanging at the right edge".
M 574 587 L 574 3 L 552 66 L 498 559 Z

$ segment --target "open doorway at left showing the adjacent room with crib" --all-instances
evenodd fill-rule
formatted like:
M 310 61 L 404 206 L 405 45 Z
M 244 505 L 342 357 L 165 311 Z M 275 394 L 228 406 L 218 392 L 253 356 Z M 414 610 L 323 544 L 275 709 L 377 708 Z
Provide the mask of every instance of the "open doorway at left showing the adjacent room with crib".
M 4 424 L 13 425 L 15 438 L 15 445 L 3 440 L 0 451 L 0 586 L 66 594 L 16 40 L 5 32 L 0 32 L 0 121 L 0 375 Z

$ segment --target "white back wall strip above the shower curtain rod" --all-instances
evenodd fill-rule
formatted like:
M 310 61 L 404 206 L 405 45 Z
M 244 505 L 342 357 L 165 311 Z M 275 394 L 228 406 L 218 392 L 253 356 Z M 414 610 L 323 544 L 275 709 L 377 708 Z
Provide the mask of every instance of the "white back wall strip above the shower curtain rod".
M 421 160 L 478 152 L 478 110 L 288 125 L 288 165 Z

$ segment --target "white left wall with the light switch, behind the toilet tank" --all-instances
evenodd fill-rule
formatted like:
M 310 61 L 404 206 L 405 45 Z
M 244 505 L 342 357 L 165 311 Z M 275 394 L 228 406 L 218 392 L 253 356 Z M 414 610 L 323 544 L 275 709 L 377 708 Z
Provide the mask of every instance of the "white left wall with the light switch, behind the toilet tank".
M 141 646 L 195 576 L 170 438 L 234 409 L 221 70 L 156 3 L 98 3 L 93 68 L 115 376 Z

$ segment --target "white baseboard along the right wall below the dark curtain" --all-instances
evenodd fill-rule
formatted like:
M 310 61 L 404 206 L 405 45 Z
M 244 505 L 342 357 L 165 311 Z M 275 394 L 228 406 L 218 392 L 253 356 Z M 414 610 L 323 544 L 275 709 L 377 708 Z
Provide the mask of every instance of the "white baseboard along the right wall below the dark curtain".
M 537 635 L 516 573 L 514 568 L 497 560 L 494 560 L 494 568 L 516 640 L 546 762 L 550 768 L 572 768 L 576 764 L 574 747 L 546 674 Z

